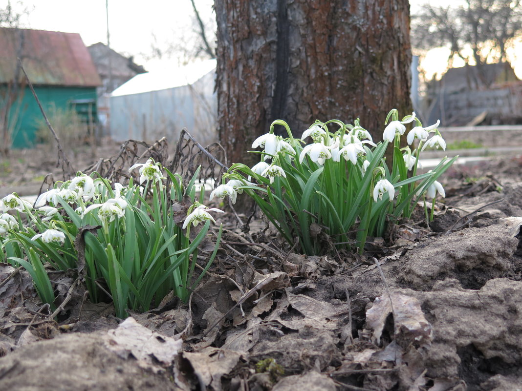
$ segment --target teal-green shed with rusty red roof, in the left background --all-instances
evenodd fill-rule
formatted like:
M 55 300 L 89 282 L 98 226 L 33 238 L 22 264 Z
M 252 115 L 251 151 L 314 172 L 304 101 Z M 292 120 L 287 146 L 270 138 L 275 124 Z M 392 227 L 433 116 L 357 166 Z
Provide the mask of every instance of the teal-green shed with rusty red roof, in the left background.
M 14 148 L 34 145 L 42 119 L 18 58 L 44 109 L 72 108 L 86 120 L 96 118 L 101 80 L 79 34 L 0 28 L 2 143 L 9 140 Z

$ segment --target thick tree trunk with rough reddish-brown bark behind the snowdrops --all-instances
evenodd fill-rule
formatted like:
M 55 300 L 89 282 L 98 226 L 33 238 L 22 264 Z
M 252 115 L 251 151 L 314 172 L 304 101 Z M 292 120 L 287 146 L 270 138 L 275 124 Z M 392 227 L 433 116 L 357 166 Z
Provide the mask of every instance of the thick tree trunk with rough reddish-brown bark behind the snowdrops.
M 229 162 L 250 163 L 275 119 L 299 137 L 316 119 L 359 117 L 378 140 L 390 109 L 411 114 L 408 0 L 215 0 L 215 10 Z

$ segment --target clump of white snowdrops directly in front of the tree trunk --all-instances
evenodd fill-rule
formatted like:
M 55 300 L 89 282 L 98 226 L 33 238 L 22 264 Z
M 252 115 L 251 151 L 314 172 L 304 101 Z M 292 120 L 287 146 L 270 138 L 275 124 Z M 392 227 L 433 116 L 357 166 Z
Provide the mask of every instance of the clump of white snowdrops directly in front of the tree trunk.
M 413 126 L 406 133 L 407 124 Z M 276 125 L 286 128 L 288 138 L 274 134 Z M 355 246 L 362 252 L 368 236 L 383 236 L 387 222 L 409 218 L 420 200 L 425 205 L 426 196 L 433 203 L 437 192 L 444 197 L 437 178 L 456 160 L 445 157 L 431 172 L 418 175 L 425 148 L 446 148 L 439 122 L 424 127 L 415 113 L 399 120 L 393 109 L 385 125 L 384 141 L 375 144 L 359 120 L 354 125 L 316 121 L 301 139 L 292 136 L 287 123 L 276 120 L 252 144 L 263 149 L 250 151 L 260 155 L 260 162 L 253 167 L 232 165 L 210 198 L 229 196 L 235 202 L 238 193 L 247 193 L 290 246 L 299 238 L 306 254 L 324 252 L 316 240 L 318 227 L 336 248 Z M 404 148 L 402 135 L 408 143 Z M 313 142 L 303 146 L 308 138 Z M 392 162 L 384 159 L 388 144 Z

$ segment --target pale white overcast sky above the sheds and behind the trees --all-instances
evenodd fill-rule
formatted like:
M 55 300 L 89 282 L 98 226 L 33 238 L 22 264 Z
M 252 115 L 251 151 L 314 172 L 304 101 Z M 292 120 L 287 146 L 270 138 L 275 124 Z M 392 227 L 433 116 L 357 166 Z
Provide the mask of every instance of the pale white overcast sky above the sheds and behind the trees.
M 429 1 L 410 0 L 411 10 L 414 12 L 420 4 Z M 461 1 L 431 0 L 431 3 L 447 5 Z M 76 32 L 87 46 L 107 42 L 105 0 L 11 0 L 11 4 L 19 8 L 17 2 L 29 8 L 29 16 L 22 27 Z M 7 0 L 0 0 L 0 7 L 6 4 Z M 212 4 L 213 0 L 196 0 L 203 19 L 213 17 Z M 111 47 L 124 55 L 133 55 L 136 63 L 151 70 L 156 63 L 141 54 L 151 53 L 154 39 L 160 47 L 166 42 L 184 42 L 186 31 L 194 29 L 193 17 L 190 0 L 109 0 Z M 446 57 L 447 54 L 434 51 L 422 65 L 429 73 L 442 72 Z M 518 57 L 522 60 L 522 54 Z M 522 69 L 522 64 L 517 68 Z

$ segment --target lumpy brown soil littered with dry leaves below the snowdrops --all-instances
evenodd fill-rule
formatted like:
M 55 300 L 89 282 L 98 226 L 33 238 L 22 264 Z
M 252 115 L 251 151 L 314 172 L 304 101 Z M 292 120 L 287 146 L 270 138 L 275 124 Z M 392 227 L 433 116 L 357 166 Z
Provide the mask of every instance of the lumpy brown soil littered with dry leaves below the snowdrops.
M 55 164 L 19 158 L 3 187 Z M 0 287 L 0 389 L 520 390 L 521 168 L 448 172 L 434 221 L 396 227 L 375 257 L 292 254 L 225 222 L 225 241 L 258 246 L 223 247 L 190 307 L 165 298 L 137 323 L 74 295 L 50 320 L 22 271 Z

